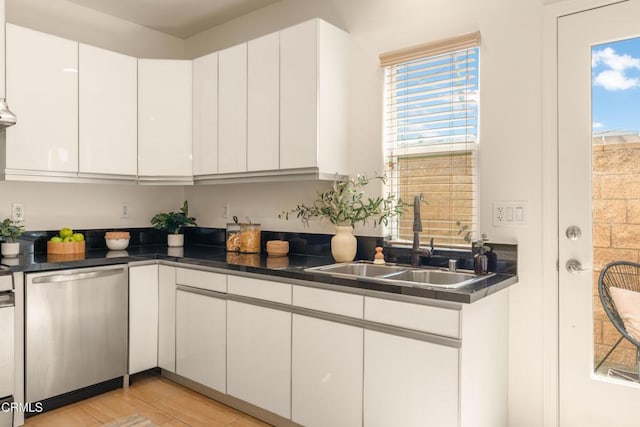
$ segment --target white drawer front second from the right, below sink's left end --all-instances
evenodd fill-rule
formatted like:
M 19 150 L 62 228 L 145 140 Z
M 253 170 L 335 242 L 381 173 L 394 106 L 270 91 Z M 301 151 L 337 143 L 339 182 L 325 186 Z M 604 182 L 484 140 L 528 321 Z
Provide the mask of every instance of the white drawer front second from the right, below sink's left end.
M 308 288 L 306 286 L 293 287 L 293 305 L 297 307 L 356 317 L 358 319 L 362 319 L 364 311 L 363 299 L 362 295 Z

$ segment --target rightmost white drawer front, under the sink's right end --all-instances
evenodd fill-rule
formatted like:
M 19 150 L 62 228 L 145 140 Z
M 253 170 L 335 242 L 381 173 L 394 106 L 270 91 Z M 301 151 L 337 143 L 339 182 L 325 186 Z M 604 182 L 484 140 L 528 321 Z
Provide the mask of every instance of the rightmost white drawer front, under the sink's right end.
M 460 311 L 365 297 L 364 318 L 385 325 L 460 338 Z

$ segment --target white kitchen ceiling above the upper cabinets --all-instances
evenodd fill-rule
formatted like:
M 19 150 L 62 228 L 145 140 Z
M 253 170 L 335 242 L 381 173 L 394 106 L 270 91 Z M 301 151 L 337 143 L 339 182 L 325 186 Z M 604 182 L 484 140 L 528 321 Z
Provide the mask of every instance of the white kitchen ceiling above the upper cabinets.
M 69 1 L 184 39 L 278 0 Z

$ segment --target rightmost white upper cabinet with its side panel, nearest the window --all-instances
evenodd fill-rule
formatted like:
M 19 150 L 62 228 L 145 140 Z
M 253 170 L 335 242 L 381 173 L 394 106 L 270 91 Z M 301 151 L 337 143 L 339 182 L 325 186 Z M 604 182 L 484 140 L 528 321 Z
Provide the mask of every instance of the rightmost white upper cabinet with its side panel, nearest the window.
M 346 173 L 348 35 L 319 19 L 280 32 L 280 169 Z

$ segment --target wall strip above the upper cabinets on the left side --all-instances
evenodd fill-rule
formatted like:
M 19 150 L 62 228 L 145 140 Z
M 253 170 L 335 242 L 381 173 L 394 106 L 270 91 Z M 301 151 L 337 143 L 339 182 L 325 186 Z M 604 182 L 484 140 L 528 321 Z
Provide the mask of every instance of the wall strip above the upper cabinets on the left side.
M 67 0 L 6 0 L 12 24 L 139 58 L 182 58 L 184 40 Z

